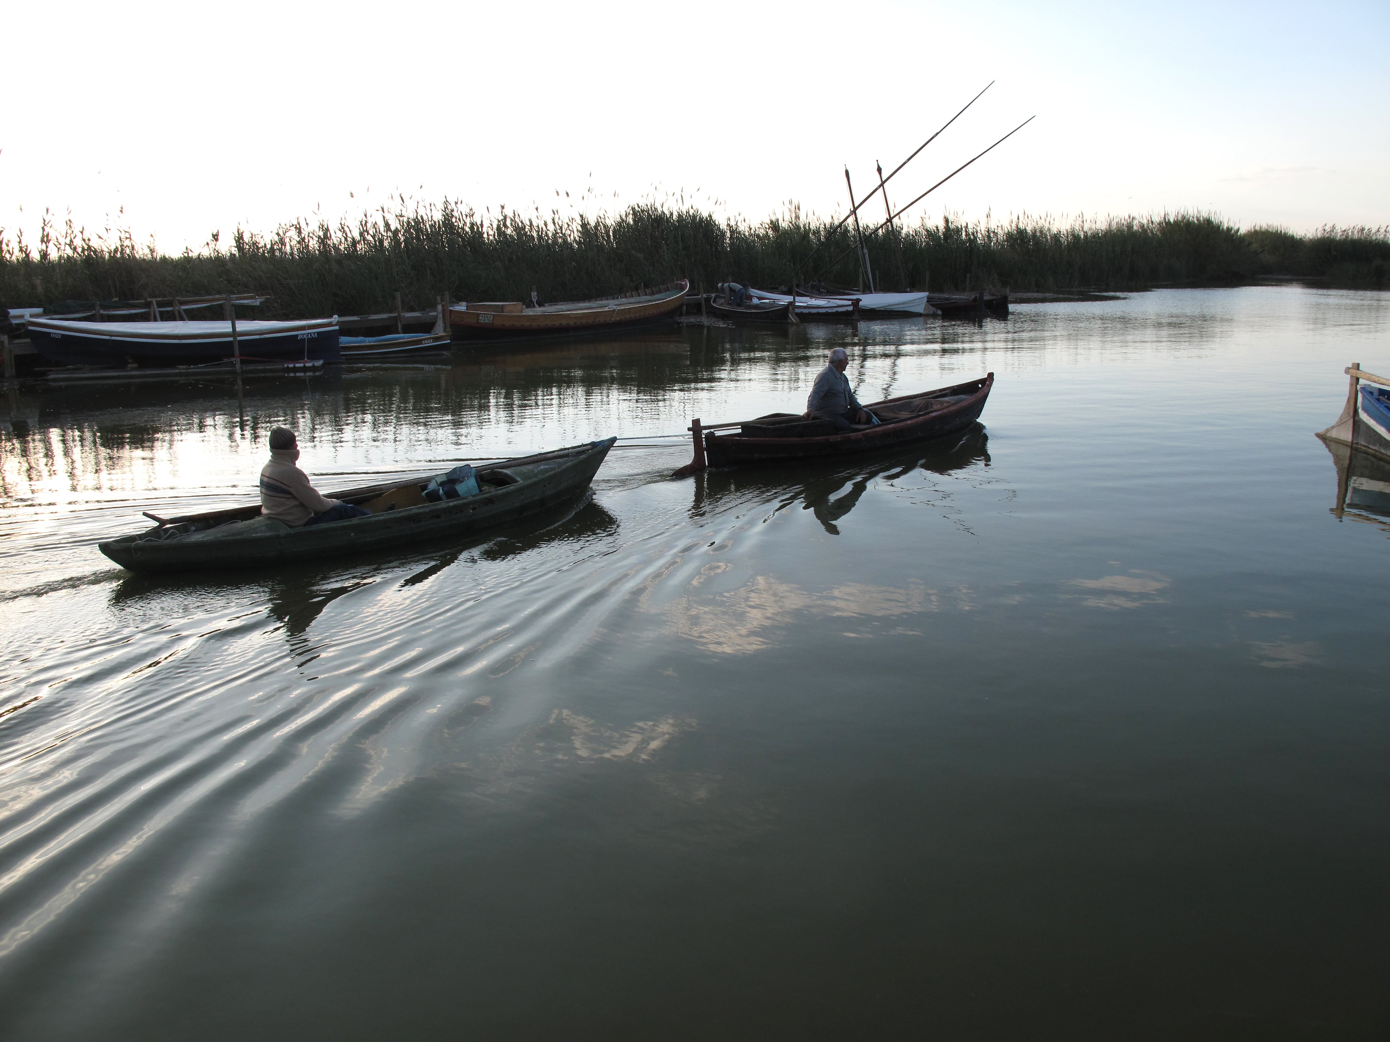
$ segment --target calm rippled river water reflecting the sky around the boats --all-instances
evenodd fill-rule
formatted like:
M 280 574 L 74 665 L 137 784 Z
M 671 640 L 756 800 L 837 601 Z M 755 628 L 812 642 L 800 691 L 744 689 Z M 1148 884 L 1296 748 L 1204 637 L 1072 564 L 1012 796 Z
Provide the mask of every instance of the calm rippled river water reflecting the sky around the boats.
M 998 374 L 984 428 L 666 475 L 639 436 Z M 3 425 L 0 1035 L 1384 1038 L 1390 297 L 671 329 Z M 582 439 L 566 514 L 281 574 L 95 540 Z M 442 470 L 442 467 L 441 467 Z M 11 709 L 14 707 L 14 709 Z

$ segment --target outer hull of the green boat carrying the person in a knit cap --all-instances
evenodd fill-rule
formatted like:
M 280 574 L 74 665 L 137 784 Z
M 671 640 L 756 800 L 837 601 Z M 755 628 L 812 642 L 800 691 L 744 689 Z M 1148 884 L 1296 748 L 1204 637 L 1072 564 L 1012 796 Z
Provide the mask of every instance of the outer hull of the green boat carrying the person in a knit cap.
M 589 488 L 614 440 L 609 438 L 557 453 L 492 464 L 498 468 L 525 467 L 539 471 L 516 485 L 488 489 L 466 499 L 427 503 L 307 528 L 284 528 L 284 531 L 218 539 L 158 538 L 163 531 L 160 527 L 99 543 L 99 549 L 129 571 L 189 572 L 288 565 L 367 550 L 411 549 L 428 539 L 466 538 L 575 502 Z M 553 465 L 549 465 L 552 463 Z M 332 493 L 332 497 L 367 502 L 386 489 L 388 486 L 349 489 Z M 260 506 L 256 504 L 182 521 L 247 521 L 259 515 Z

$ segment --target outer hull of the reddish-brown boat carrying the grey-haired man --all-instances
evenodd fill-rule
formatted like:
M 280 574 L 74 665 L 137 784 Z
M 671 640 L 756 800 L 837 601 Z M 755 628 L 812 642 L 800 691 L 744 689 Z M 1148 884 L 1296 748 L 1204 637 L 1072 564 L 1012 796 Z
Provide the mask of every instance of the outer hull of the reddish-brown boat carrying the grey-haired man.
M 916 420 L 905 420 L 865 431 L 826 435 L 821 438 L 745 438 L 744 435 L 705 435 L 705 458 L 712 467 L 726 467 L 741 463 L 773 463 L 785 460 L 813 458 L 820 456 L 841 456 L 869 452 L 912 442 L 926 442 L 934 438 L 965 431 L 980 418 L 984 404 L 994 386 L 994 374 L 967 383 L 926 392 L 926 395 L 905 395 L 885 402 L 876 402 L 866 408 L 885 406 L 891 402 L 905 402 L 923 396 L 969 395 L 947 408 L 927 413 Z

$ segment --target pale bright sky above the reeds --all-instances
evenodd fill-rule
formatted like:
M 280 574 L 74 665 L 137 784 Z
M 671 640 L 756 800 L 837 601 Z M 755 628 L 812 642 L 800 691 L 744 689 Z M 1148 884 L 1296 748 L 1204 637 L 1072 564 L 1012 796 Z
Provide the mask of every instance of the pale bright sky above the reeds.
M 7 8 L 0 235 L 47 208 L 161 251 L 460 200 L 1198 210 L 1390 225 L 1390 3 L 28 3 Z M 880 206 L 881 208 L 881 206 Z M 866 210 L 867 211 L 867 210 Z M 866 213 L 862 211 L 862 213 Z M 877 210 L 874 211 L 877 213 Z

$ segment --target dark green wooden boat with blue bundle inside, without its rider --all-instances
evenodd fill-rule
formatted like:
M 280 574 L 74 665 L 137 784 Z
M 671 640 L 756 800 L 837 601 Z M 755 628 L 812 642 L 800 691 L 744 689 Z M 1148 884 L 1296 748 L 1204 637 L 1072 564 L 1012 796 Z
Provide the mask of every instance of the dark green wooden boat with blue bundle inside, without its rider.
M 461 499 L 395 508 L 423 500 L 431 478 L 421 475 L 364 488 L 332 492 L 332 499 L 364 506 L 374 500 L 381 513 L 307 528 L 291 528 L 263 517 L 259 503 L 188 517 L 154 518 L 158 524 L 135 535 L 99 543 L 99 549 L 131 571 L 203 571 L 289 564 L 314 557 L 338 557 L 363 550 L 411 549 L 425 539 L 467 536 L 578 499 L 603 464 L 616 438 L 537 456 L 482 464 L 478 492 Z M 413 490 L 413 495 L 411 495 Z M 150 515 L 153 517 L 153 515 Z

